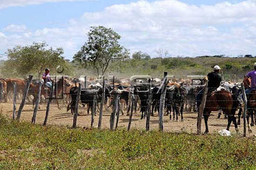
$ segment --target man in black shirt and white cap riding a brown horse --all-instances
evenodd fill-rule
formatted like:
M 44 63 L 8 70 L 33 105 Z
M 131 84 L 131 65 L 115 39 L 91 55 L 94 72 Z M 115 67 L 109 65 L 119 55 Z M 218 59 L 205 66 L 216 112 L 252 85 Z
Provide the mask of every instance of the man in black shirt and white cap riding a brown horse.
M 215 65 L 213 67 L 214 72 L 209 72 L 208 77 L 208 92 L 215 91 L 220 85 L 222 81 L 222 77 L 219 74 L 221 67 L 219 65 Z M 196 105 L 197 108 L 201 105 L 202 96 L 203 96 L 204 89 L 202 89 L 198 94 L 196 95 Z

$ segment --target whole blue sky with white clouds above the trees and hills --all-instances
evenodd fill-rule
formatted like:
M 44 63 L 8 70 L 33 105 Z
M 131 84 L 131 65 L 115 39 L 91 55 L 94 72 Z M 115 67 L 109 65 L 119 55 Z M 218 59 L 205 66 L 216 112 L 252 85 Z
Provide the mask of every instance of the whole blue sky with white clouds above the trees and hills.
M 89 26 L 103 25 L 131 53 L 256 55 L 254 9 L 255 0 L 2 0 L 0 53 L 45 40 L 72 59 Z

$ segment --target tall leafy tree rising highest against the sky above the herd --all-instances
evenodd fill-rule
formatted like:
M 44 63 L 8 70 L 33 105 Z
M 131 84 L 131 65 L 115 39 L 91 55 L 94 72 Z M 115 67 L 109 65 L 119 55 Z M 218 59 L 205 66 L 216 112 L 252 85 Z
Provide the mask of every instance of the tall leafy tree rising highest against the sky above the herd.
M 87 42 L 73 59 L 84 68 L 92 65 L 98 76 L 103 76 L 111 62 L 129 58 L 128 50 L 119 44 L 119 39 L 121 36 L 111 28 L 92 26 Z

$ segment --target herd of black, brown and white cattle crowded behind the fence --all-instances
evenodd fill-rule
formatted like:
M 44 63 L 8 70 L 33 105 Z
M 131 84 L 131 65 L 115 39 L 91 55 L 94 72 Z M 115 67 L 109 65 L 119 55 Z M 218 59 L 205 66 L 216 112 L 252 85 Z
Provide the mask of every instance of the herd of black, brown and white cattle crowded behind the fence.
M 9 78 L 9 79 L 0 79 L 2 86 L 2 101 L 8 102 L 12 99 L 13 92 L 13 83 L 16 83 L 16 88 L 18 94 L 23 93 L 27 80 L 18 79 L 18 78 Z M 103 82 L 105 87 L 105 93 L 103 92 Z M 160 108 L 161 94 L 163 90 L 163 79 L 159 78 L 110 78 L 110 79 L 96 79 L 96 78 L 70 78 L 63 76 L 60 79 L 56 79 L 54 83 L 54 97 L 62 100 L 63 103 L 67 105 L 67 111 L 71 110 L 71 113 L 74 114 L 74 108 L 76 104 L 76 95 L 78 92 L 78 83 L 81 84 L 81 96 L 80 96 L 80 105 L 87 105 L 87 111 L 92 111 L 93 105 L 94 114 L 99 111 L 99 105 L 102 100 L 102 94 L 104 94 L 104 105 L 105 110 L 108 111 L 109 108 L 112 111 L 115 110 L 116 103 L 118 101 L 118 108 L 121 111 L 121 114 L 124 115 L 124 111 L 127 110 L 127 116 L 129 116 L 131 110 L 135 113 L 137 111 L 141 112 L 141 119 L 145 118 L 147 114 L 154 116 L 156 113 L 159 114 L 160 109 L 164 109 L 165 115 L 169 115 L 170 119 L 179 121 L 179 116 L 181 116 L 181 121 L 184 121 L 183 118 L 183 109 L 185 111 L 197 111 L 196 108 L 196 94 L 204 87 L 206 82 L 205 78 L 195 78 L 195 79 L 183 79 L 183 78 L 167 78 L 166 79 L 166 92 L 164 96 L 164 106 Z M 43 84 L 42 80 L 34 79 L 30 84 L 27 100 L 32 99 L 32 104 L 34 107 L 34 102 L 37 98 L 37 93 L 39 91 L 40 83 Z M 218 88 L 218 91 L 225 91 L 227 94 L 232 95 L 233 105 L 231 107 L 233 110 L 239 109 L 238 113 L 238 122 L 240 124 L 240 117 L 242 113 L 242 99 L 241 99 L 241 84 L 232 83 L 230 81 L 222 82 L 222 85 Z M 45 85 L 41 86 L 41 102 L 44 101 L 50 94 L 50 89 Z M 118 98 L 118 100 L 116 100 Z M 56 103 L 59 106 L 58 100 Z M 237 102 L 235 102 L 237 101 Z M 95 102 L 95 103 L 94 103 Z M 237 105 L 235 105 L 235 103 Z M 149 109 L 148 109 L 149 105 Z M 225 106 L 220 107 L 217 105 L 215 110 L 212 105 L 206 103 L 204 111 L 204 117 L 207 113 L 207 107 L 210 111 L 219 111 L 219 116 L 221 112 L 228 116 L 229 122 L 233 121 L 236 124 L 236 118 L 233 117 L 229 119 L 229 116 L 233 113 L 227 113 L 228 110 L 225 110 Z M 131 109 L 132 107 L 132 109 Z M 173 114 L 171 114 L 171 111 Z M 251 119 L 250 126 L 255 124 L 255 115 L 252 113 L 248 114 Z M 209 116 L 208 116 L 209 117 Z M 207 119 L 206 125 L 207 125 Z M 249 117 L 248 117 L 249 122 Z M 231 123 L 230 122 L 230 123 Z M 248 123 L 249 124 L 249 123 Z M 206 130 L 208 132 L 208 129 Z

